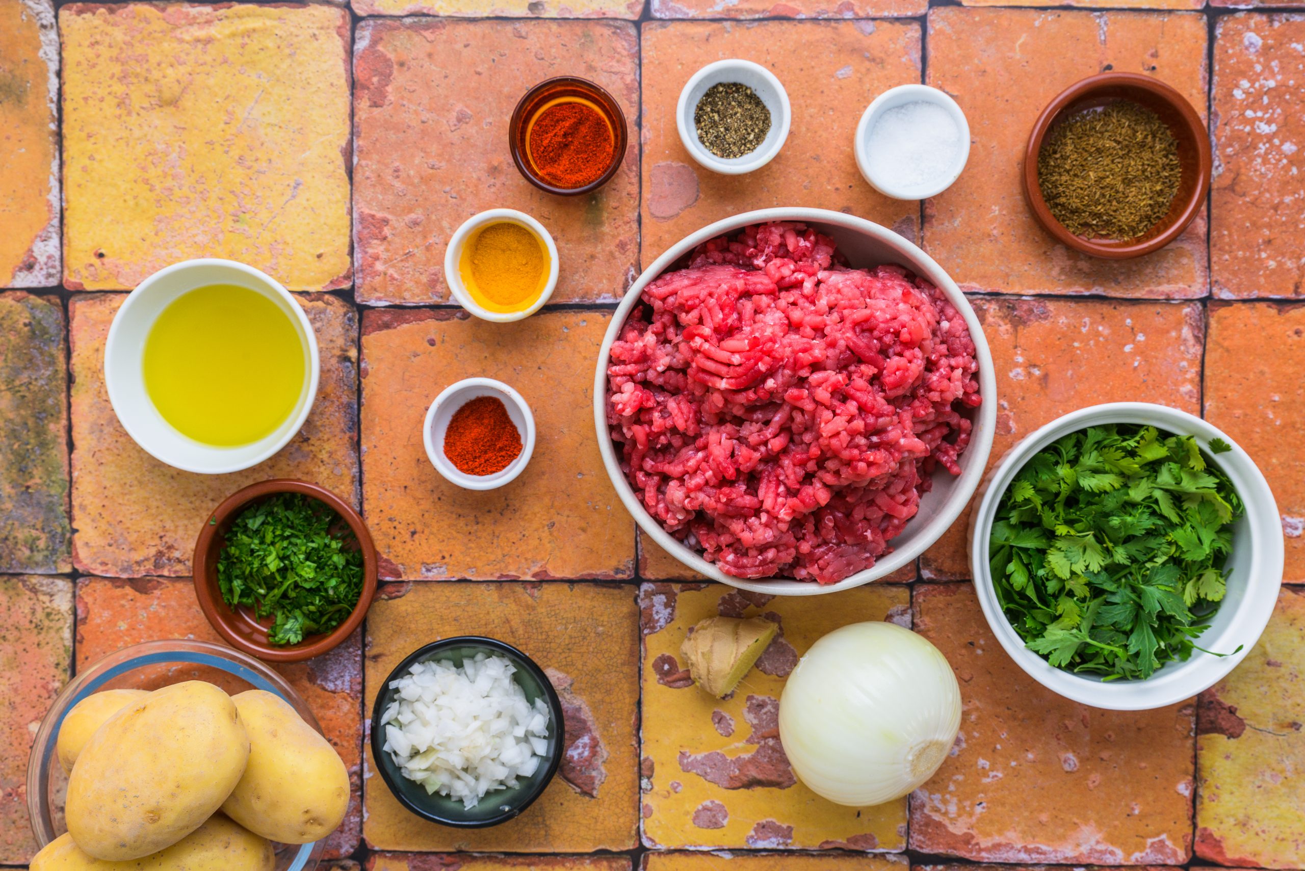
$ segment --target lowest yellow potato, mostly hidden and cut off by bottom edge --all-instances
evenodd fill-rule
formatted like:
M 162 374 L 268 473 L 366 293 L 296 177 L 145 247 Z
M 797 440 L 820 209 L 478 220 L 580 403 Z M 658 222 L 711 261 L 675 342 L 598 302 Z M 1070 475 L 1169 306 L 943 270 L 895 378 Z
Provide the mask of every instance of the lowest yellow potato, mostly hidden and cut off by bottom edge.
M 166 850 L 127 862 L 97 859 L 61 834 L 37 854 L 30 871 L 271 871 L 275 864 L 268 838 L 215 814 Z

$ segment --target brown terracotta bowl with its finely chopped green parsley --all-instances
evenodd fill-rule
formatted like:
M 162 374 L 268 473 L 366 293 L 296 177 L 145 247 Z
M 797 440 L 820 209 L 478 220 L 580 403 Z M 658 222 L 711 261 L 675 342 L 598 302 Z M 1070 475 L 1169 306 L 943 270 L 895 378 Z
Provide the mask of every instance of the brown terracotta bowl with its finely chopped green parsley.
M 358 628 L 376 595 L 376 546 L 330 490 L 278 479 L 219 505 L 194 544 L 194 592 L 232 647 L 298 662 Z

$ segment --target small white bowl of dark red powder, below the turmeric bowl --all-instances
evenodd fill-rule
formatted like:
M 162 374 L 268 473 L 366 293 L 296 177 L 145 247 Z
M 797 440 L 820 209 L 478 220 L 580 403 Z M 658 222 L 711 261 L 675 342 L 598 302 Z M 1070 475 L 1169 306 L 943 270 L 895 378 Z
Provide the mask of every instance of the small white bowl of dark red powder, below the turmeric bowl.
M 514 480 L 535 452 L 535 416 L 515 390 L 493 378 L 445 387 L 425 412 L 425 455 L 435 471 L 467 490 Z

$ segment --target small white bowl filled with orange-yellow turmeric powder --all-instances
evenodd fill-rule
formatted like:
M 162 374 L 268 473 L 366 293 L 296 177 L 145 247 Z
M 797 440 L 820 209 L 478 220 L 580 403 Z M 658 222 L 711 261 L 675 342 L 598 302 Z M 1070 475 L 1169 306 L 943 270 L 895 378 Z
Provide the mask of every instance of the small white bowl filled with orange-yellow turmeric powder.
M 557 245 L 523 211 L 482 211 L 453 233 L 444 253 L 444 279 L 458 304 L 478 318 L 519 321 L 553 295 Z

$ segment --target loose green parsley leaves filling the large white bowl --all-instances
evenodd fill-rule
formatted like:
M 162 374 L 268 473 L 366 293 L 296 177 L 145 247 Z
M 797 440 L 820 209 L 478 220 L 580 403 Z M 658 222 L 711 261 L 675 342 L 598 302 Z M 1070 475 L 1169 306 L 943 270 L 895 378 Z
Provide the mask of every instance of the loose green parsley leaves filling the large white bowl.
M 989 540 L 997 598 L 1052 665 L 1147 678 L 1191 656 L 1208 627 L 1242 511 L 1193 437 L 1090 426 L 1035 454 L 1002 495 Z

